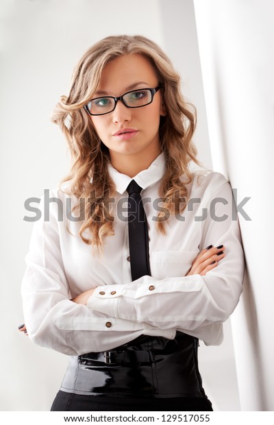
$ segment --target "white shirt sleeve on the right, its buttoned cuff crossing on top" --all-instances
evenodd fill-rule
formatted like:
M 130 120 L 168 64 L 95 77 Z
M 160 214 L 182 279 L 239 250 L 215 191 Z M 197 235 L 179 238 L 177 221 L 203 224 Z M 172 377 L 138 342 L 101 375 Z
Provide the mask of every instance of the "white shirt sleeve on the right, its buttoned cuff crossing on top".
M 232 190 L 224 178 L 206 210 L 200 250 L 211 244 L 225 245 L 225 257 L 212 271 L 206 276 L 164 280 L 144 276 L 125 285 L 110 285 L 104 293 L 96 289 L 88 299 L 90 310 L 163 329 L 176 328 L 201 339 L 208 325 L 225 321 L 238 303 L 245 261 Z

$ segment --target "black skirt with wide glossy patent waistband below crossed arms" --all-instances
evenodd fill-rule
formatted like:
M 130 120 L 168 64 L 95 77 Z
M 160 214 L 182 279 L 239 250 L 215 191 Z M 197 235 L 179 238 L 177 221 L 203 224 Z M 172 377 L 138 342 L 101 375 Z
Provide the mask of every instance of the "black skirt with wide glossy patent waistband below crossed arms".
M 199 341 L 142 335 L 108 352 L 71 356 L 51 411 L 212 411 Z

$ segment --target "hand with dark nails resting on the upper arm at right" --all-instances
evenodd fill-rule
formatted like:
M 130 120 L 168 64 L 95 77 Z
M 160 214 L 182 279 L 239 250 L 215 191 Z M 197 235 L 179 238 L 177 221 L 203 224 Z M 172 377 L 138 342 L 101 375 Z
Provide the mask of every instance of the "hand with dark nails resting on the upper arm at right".
M 195 260 L 192 262 L 192 266 L 188 270 L 186 276 L 192 274 L 199 274 L 205 276 L 208 271 L 214 269 L 218 262 L 225 256 L 225 247 L 220 245 L 219 247 L 208 247 L 199 252 Z

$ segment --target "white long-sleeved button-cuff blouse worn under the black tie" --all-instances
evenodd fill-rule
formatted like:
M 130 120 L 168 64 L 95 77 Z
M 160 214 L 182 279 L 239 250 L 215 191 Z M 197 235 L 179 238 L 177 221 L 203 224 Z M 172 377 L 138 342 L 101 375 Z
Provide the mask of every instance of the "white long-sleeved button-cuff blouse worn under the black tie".
M 231 187 L 220 173 L 193 173 L 188 205 L 171 215 L 163 235 L 156 217 L 164 171 L 160 154 L 134 177 L 143 188 L 151 267 L 151 276 L 134 282 L 125 212 L 132 178 L 109 166 L 116 184 L 115 234 L 105 239 L 100 255 L 78 236 L 81 222 L 70 215 L 76 199 L 59 189 L 49 191 L 51 199 L 42 196 L 22 283 L 25 324 L 34 343 L 79 355 L 110 350 L 142 334 L 173 339 L 176 330 L 206 345 L 222 342 L 222 322 L 238 303 L 245 268 Z M 185 276 L 199 251 L 221 244 L 225 257 L 212 271 Z M 95 287 L 88 306 L 71 301 Z

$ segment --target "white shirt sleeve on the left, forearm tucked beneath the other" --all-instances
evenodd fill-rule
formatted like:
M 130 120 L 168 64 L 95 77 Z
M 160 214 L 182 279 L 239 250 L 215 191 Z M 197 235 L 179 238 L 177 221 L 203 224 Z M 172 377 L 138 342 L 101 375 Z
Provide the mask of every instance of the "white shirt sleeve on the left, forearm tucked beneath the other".
M 40 210 L 44 210 L 43 197 Z M 38 345 L 64 354 L 110 350 L 127 343 L 153 326 L 93 311 L 70 300 L 58 221 L 51 208 L 49 221 L 34 223 L 22 296 L 29 338 Z

